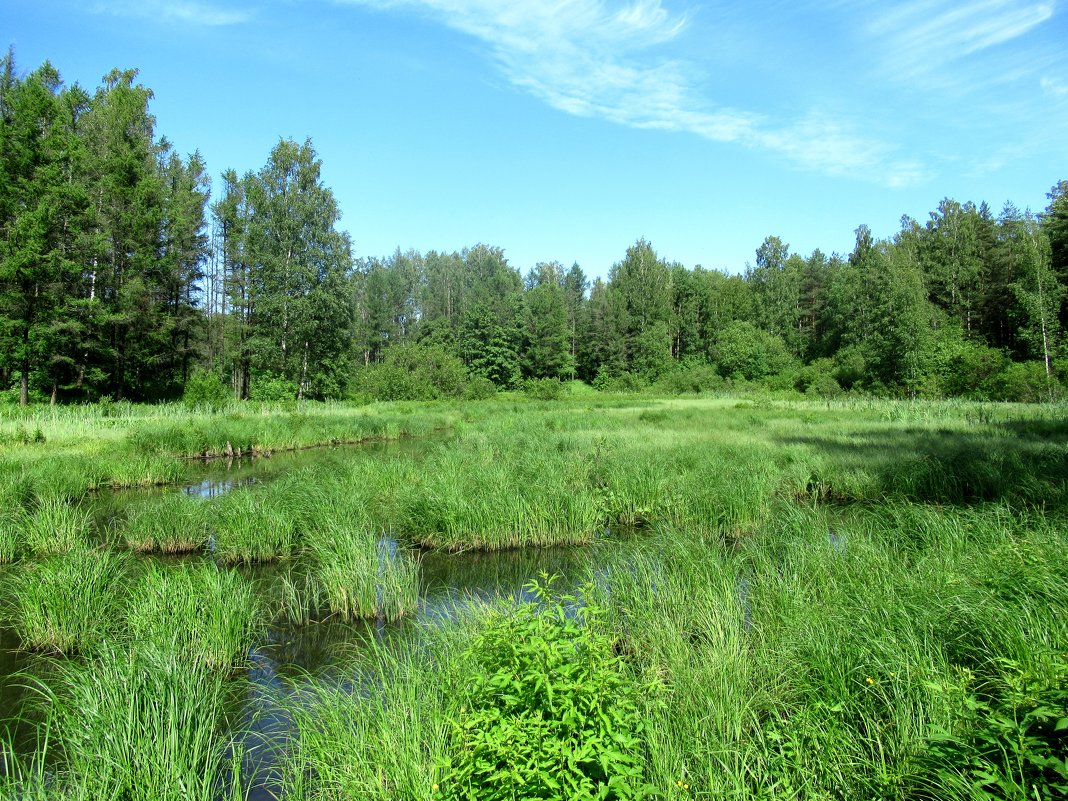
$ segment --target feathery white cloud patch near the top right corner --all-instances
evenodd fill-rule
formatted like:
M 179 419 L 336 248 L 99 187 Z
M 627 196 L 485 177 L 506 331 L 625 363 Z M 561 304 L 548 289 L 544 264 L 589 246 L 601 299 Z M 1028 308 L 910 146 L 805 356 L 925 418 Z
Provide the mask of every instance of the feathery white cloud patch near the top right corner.
M 1053 16 L 1052 2 L 912 0 L 876 6 L 867 32 L 892 77 L 928 77 L 973 53 L 1018 38 Z

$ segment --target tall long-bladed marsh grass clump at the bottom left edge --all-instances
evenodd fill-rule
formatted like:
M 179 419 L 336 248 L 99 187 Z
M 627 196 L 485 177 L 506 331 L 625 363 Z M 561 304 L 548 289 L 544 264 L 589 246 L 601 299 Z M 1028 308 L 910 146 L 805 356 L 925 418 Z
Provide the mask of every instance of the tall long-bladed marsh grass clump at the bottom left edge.
M 41 688 L 59 755 L 49 797 L 240 798 L 240 750 L 222 735 L 224 675 L 173 650 L 106 648 Z M 236 775 L 235 775 L 236 773 Z

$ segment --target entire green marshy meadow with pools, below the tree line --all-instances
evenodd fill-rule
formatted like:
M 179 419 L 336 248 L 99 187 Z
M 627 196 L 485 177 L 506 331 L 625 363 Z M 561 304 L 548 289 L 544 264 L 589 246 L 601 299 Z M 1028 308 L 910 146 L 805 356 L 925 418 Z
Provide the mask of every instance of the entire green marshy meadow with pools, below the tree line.
M 1064 405 L 4 407 L 0 799 L 1068 798 L 1066 511 Z

